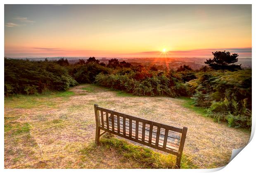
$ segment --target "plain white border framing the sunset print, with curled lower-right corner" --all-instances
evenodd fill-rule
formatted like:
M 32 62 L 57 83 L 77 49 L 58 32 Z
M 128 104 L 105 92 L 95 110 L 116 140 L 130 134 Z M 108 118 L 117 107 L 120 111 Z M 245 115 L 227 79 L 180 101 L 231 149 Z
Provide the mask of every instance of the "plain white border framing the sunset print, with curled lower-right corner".
M 2 84 L 2 90 L 1 90 L 1 112 L 2 112 L 2 117 L 1 117 L 1 159 L 0 159 L 0 164 L 1 164 L 1 168 L 4 169 L 4 88 L 3 88 L 3 83 L 4 83 L 4 4 L 252 4 L 252 58 L 254 58 L 255 55 L 255 48 L 253 45 L 255 45 L 255 16 L 256 16 L 256 8 L 254 7 L 256 5 L 256 1 L 253 0 L 208 0 L 208 1 L 204 1 L 204 0 L 180 0 L 180 1 L 169 1 L 169 0 L 123 0 L 123 1 L 119 1 L 119 0 L 72 0 L 72 1 L 68 1 L 68 0 L 23 0 L 22 2 L 19 0 L 3 0 L 2 1 L 3 4 L 1 6 L 1 20 L 2 20 L 2 28 L 1 28 L 1 52 L 2 52 L 2 58 L 1 58 L 1 63 L 0 65 L 1 67 L 1 84 Z M 252 68 L 255 68 L 255 63 L 254 60 L 252 60 Z M 255 72 L 254 70 L 252 70 L 253 76 L 255 76 Z M 253 77 L 253 81 L 252 81 L 252 86 L 255 86 L 255 79 Z M 253 98 L 253 108 L 255 108 L 256 104 L 255 104 L 255 92 L 253 90 L 252 92 L 252 98 Z M 254 112 L 254 110 L 253 110 Z M 255 131 L 255 118 L 253 116 L 253 122 L 252 122 L 252 136 L 251 136 L 251 142 L 238 154 L 237 157 L 235 157 L 227 166 L 225 166 L 225 168 L 220 169 L 220 168 L 216 168 L 216 169 L 190 169 L 190 170 L 129 170 L 129 169 L 123 169 L 121 170 L 123 173 L 126 172 L 130 172 L 130 171 L 161 171 L 162 172 L 166 172 L 168 171 L 168 173 L 171 172 L 213 172 L 213 171 L 218 171 L 220 173 L 224 173 L 224 172 L 252 172 L 252 170 L 255 170 L 255 156 L 256 156 L 256 152 L 255 152 L 255 147 L 256 146 L 256 142 L 255 139 L 252 138 L 254 131 Z M 45 171 L 54 171 L 54 172 L 70 172 L 70 171 L 75 171 L 75 172 L 81 172 L 81 171 L 86 171 L 86 172 L 95 172 L 95 171 L 103 171 L 104 173 L 110 173 L 110 172 L 117 172 L 120 170 L 111 170 L 111 169 L 107 169 L 107 170 L 92 170 L 92 169 L 69 169 L 69 170 L 59 170 L 59 169 L 55 169 L 55 170 L 44 170 L 44 169 L 37 169 L 37 170 L 27 170 L 27 169 L 4 169 L 3 171 L 5 172 L 31 172 L 31 171 L 37 171 L 37 172 L 45 172 Z

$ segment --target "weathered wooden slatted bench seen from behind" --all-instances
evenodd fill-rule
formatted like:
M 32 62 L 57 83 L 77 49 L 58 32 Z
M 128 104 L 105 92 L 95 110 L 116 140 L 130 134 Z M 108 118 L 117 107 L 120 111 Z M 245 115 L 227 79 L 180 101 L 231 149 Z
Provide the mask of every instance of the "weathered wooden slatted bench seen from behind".
M 147 119 L 126 115 L 114 110 L 100 108 L 94 105 L 96 119 L 95 142 L 100 142 L 100 136 L 109 132 L 137 143 L 168 152 L 177 156 L 176 166 L 180 168 L 187 127 L 183 129 L 153 122 Z M 125 122 L 125 123 L 124 123 Z M 103 130 L 103 133 L 100 133 Z

